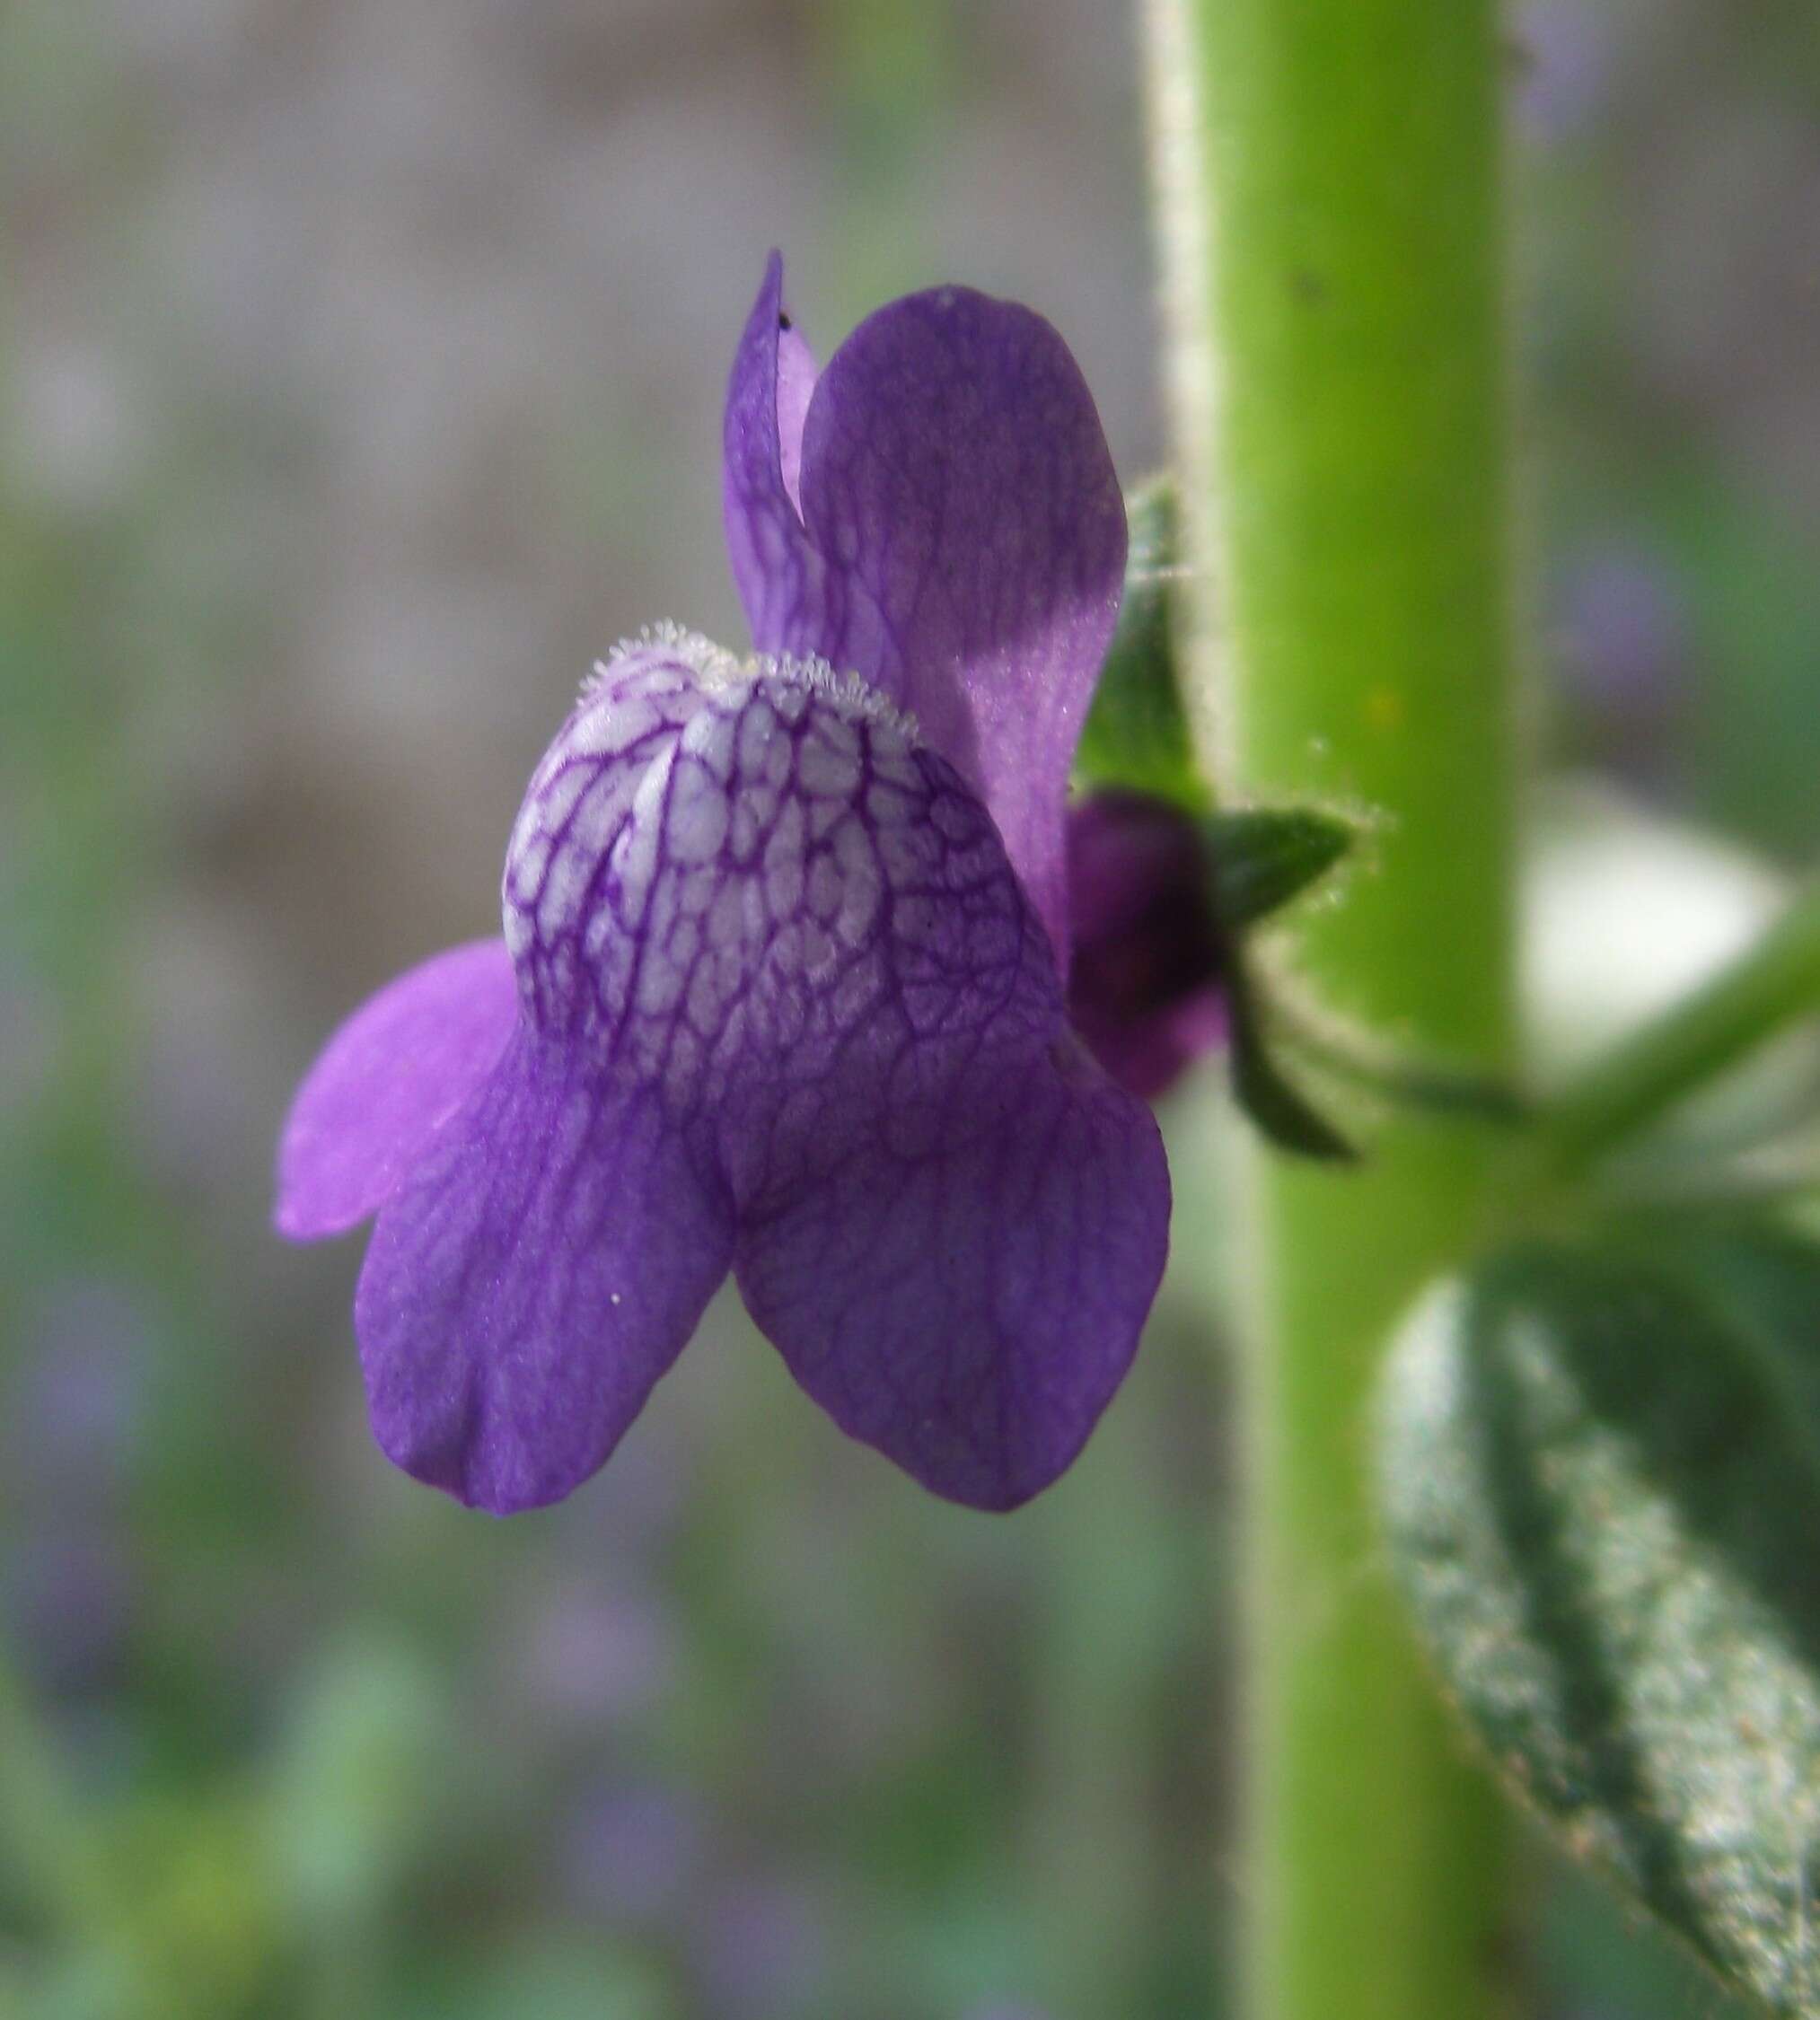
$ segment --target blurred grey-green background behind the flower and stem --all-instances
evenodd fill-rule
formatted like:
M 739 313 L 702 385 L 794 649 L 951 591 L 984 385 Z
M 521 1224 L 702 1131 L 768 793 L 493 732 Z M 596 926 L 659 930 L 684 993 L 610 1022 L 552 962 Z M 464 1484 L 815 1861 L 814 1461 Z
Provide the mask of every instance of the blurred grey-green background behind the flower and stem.
M 1561 828 L 1551 889 L 1650 949 L 1543 949 L 1570 1036 L 1820 842 L 1816 22 L 1509 22 L 1535 733 L 1634 842 Z M 1103 0 L 0 8 L 0 2016 L 1218 2010 L 1216 1073 L 1137 1372 L 1010 1521 L 842 1444 L 729 1301 L 570 1505 L 465 1513 L 368 1438 L 360 1242 L 267 1230 L 291 1087 L 491 929 L 590 661 L 741 638 L 719 396 L 770 244 L 822 356 L 929 281 L 1032 301 L 1157 461 L 1133 40 Z M 1525 2012 L 1719 2010 L 1539 1852 L 1523 1897 Z

